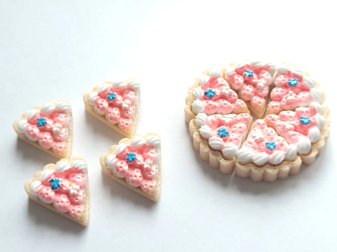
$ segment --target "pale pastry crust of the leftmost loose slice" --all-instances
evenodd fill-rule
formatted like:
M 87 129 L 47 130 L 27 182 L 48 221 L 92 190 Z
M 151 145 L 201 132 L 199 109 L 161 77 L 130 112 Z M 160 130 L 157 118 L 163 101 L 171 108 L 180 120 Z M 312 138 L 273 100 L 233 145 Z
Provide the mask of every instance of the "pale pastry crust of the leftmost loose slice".
M 65 102 L 69 103 L 69 102 L 66 101 L 66 100 L 58 100 L 58 101 L 65 101 Z M 58 101 L 52 102 L 52 103 L 55 105 Z M 32 109 L 41 110 L 41 106 L 35 106 L 35 107 L 33 107 Z M 66 140 L 67 146 L 66 146 L 65 150 L 64 150 L 61 154 L 57 154 L 57 153 L 53 152 L 52 149 L 44 149 L 44 148 L 38 143 L 38 141 L 31 141 L 31 140 L 29 140 L 29 139 L 26 137 L 26 135 L 25 135 L 24 133 L 20 133 L 20 132 L 19 132 L 18 123 L 19 123 L 19 121 L 22 120 L 22 119 L 26 119 L 26 120 L 27 120 L 27 112 L 24 113 L 24 114 L 22 115 L 22 118 L 21 118 L 21 119 L 16 120 L 16 121 L 14 121 L 14 123 L 13 123 L 14 130 L 17 132 L 18 137 L 19 137 L 20 139 L 22 139 L 22 140 L 24 140 L 24 141 L 30 143 L 31 145 L 35 146 L 36 148 L 38 148 L 38 149 L 40 149 L 40 150 L 42 150 L 42 151 L 44 151 L 44 152 L 49 153 L 50 155 L 53 155 L 54 157 L 57 157 L 57 158 L 67 158 L 67 159 L 70 158 L 70 156 L 71 156 L 71 145 L 72 145 L 72 112 L 70 112 L 70 122 L 69 122 L 69 126 L 68 126 L 68 138 L 67 138 L 67 140 Z

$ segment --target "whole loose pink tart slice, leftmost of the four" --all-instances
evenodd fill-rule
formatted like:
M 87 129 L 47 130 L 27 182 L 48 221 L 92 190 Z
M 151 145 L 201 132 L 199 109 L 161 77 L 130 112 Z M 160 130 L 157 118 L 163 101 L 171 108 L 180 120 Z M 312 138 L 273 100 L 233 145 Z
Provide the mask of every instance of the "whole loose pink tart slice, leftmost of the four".
M 66 100 L 46 102 L 14 121 L 19 138 L 57 158 L 70 158 L 72 112 Z

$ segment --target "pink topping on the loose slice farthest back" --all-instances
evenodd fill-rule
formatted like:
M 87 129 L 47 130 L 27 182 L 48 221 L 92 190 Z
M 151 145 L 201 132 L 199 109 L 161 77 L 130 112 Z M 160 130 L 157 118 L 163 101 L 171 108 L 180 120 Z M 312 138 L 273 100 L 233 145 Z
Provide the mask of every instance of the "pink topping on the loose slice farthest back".
M 109 100 L 107 96 L 112 92 L 116 98 Z M 106 114 L 111 123 L 118 123 L 118 126 L 126 131 L 132 125 L 131 117 L 135 113 L 135 104 L 137 103 L 135 91 L 131 88 L 108 88 L 97 94 L 94 100 L 95 107 L 102 113 Z M 123 101 L 128 105 L 123 107 Z

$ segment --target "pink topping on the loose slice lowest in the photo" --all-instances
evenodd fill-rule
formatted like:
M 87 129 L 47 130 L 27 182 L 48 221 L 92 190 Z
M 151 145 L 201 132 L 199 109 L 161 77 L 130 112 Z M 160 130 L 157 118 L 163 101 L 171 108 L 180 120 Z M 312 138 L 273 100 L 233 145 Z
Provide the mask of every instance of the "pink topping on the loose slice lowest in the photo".
M 57 178 L 60 180 L 60 187 L 52 190 L 50 180 Z M 36 189 L 36 195 L 41 197 L 45 202 L 53 203 L 54 207 L 61 212 L 78 218 L 85 212 L 83 206 L 85 195 L 85 186 L 87 178 L 83 171 L 78 168 L 70 168 L 63 173 L 54 172 L 46 177 Z M 70 193 L 71 186 L 79 186 L 77 193 Z

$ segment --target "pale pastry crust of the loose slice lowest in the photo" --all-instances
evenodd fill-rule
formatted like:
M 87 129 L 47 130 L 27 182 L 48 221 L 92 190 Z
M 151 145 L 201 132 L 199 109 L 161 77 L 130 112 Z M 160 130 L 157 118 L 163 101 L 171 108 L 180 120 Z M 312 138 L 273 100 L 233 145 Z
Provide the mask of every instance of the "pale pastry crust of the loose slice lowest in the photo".
M 62 161 L 67 161 L 67 162 L 72 162 L 74 159 L 80 159 L 80 160 L 83 160 L 85 161 L 83 158 L 80 158 L 80 157 L 73 157 L 72 159 L 68 160 L 68 159 L 61 159 L 60 161 L 58 161 L 56 164 L 58 164 L 59 162 L 62 162 Z M 46 166 L 43 167 L 43 170 L 45 169 L 52 169 L 52 170 L 55 170 L 55 166 L 56 164 L 48 164 Z M 74 217 L 72 217 L 68 212 L 66 213 L 63 213 L 63 212 L 60 212 L 58 211 L 53 203 L 51 204 L 47 204 L 47 203 L 44 203 L 43 201 L 41 201 L 39 199 L 38 196 L 34 196 L 32 195 L 31 191 L 30 191 L 30 184 L 32 182 L 34 182 L 35 180 L 40 180 L 41 178 L 41 171 L 38 171 L 35 173 L 34 175 L 34 178 L 33 179 L 30 179 L 28 180 L 26 183 L 25 183 L 25 190 L 29 196 L 29 198 L 47 208 L 49 208 L 50 210 L 54 211 L 54 212 L 57 212 L 58 214 L 61 214 L 63 215 L 64 217 L 67 217 L 68 219 L 71 219 L 73 221 L 76 221 L 77 223 L 80 223 L 81 225 L 83 226 L 87 226 L 88 225 L 88 222 L 89 222 L 89 189 L 88 189 L 88 173 L 86 173 L 86 177 L 87 177 L 87 185 L 85 187 L 85 195 L 86 195 L 86 198 L 84 200 L 84 203 L 83 203 L 83 206 L 85 208 L 85 216 L 84 216 L 84 219 L 83 220 L 78 220 L 78 219 L 75 219 Z

